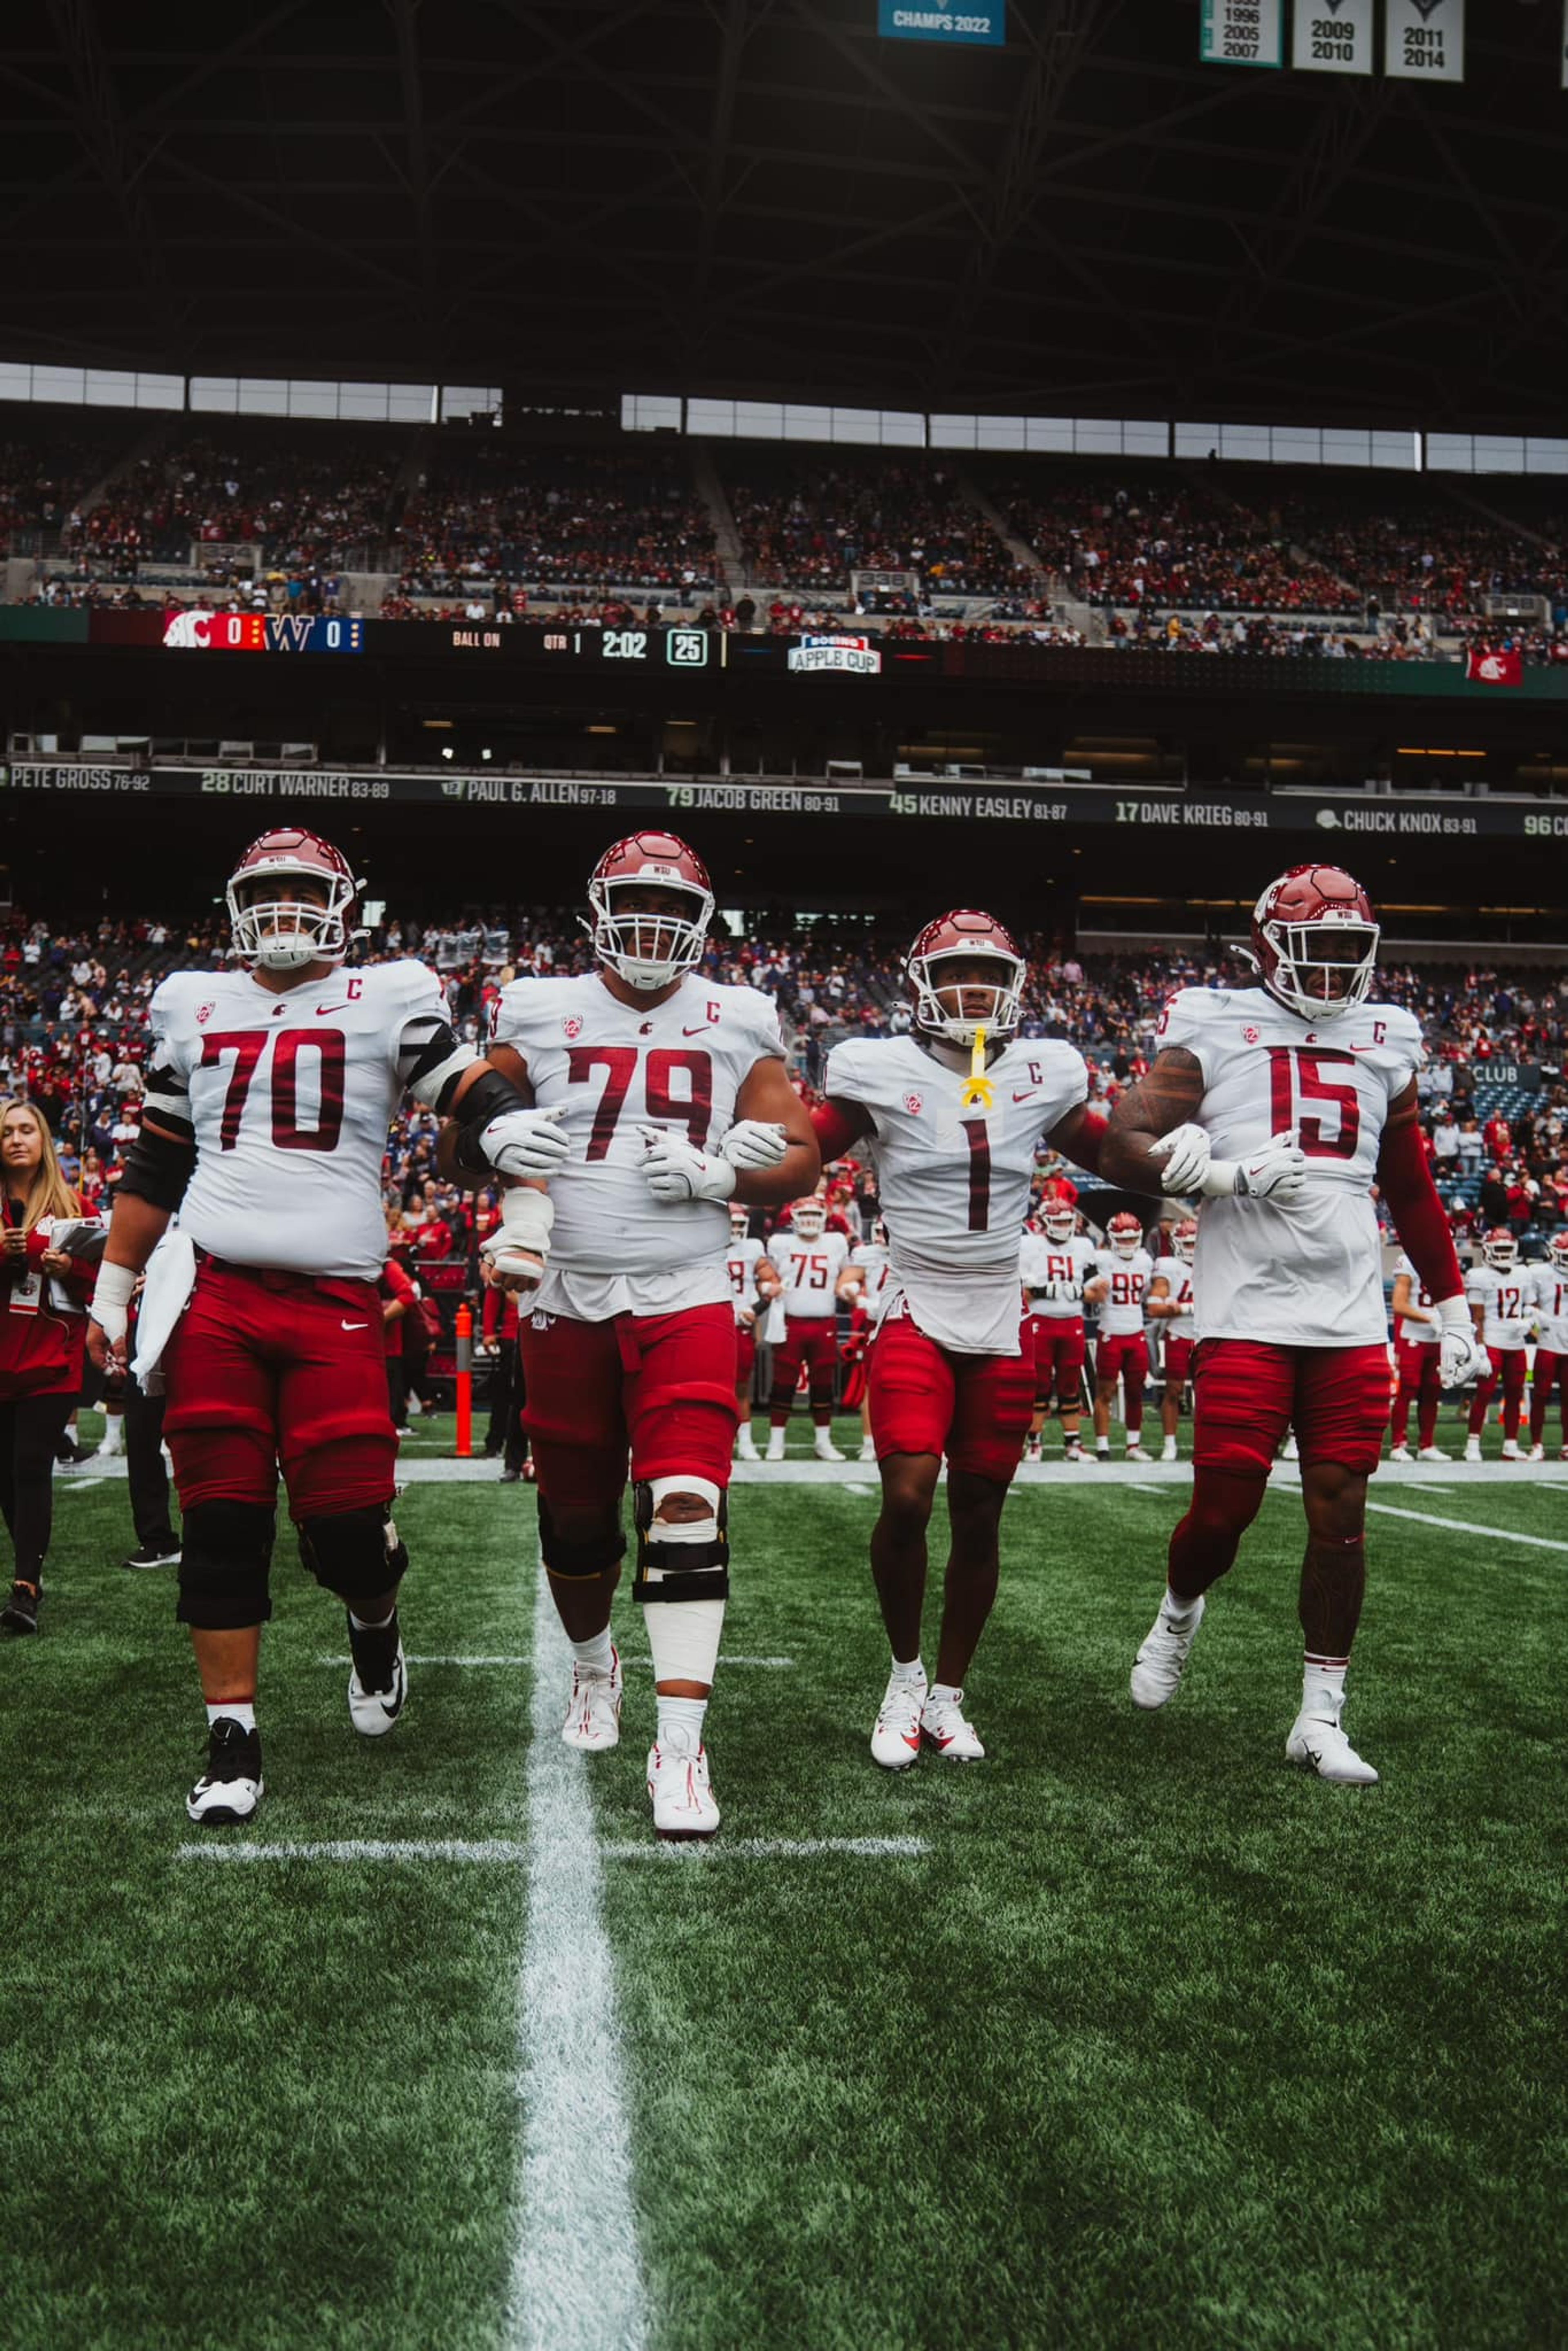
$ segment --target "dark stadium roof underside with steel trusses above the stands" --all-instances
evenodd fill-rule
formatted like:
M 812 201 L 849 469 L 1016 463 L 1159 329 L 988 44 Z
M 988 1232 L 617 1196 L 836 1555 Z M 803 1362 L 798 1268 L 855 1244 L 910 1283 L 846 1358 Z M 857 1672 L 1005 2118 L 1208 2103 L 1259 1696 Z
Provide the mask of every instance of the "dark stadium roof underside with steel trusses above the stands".
M 1434 89 L 1201 66 L 1197 0 L 49 0 L 0 357 L 1561 433 L 1561 19 L 1469 19 Z

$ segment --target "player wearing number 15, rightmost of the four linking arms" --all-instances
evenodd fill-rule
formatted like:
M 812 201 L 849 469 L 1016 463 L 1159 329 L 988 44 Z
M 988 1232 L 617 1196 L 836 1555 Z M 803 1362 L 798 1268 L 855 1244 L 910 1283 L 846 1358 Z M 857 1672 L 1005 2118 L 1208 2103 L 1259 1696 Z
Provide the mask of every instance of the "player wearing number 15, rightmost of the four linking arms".
M 1201 1199 L 1192 1505 L 1131 1686 L 1140 1707 L 1175 1695 L 1204 1594 L 1232 1566 L 1293 1427 L 1307 1655 L 1286 1756 L 1366 1784 L 1378 1773 L 1340 1712 L 1366 1589 L 1366 1481 L 1389 1411 L 1373 1183 L 1436 1300 L 1443 1382 L 1472 1378 L 1481 1349 L 1420 1140 L 1420 1027 L 1368 1002 L 1366 891 L 1338 865 L 1295 865 L 1253 910 L 1253 955 L 1258 987 L 1185 987 L 1166 1004 L 1154 1067 L 1117 1103 L 1103 1150 L 1107 1183 Z

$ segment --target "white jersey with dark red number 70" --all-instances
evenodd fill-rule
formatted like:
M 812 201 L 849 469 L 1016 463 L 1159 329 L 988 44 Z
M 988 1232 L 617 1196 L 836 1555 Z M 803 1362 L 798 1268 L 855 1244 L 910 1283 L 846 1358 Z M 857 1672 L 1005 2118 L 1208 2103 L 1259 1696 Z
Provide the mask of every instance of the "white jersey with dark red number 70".
M 275 994 L 249 971 L 174 971 L 148 1020 L 146 1105 L 195 1128 L 181 1230 L 230 1265 L 374 1281 L 393 1110 L 430 1041 L 451 1044 L 435 973 L 367 964 Z

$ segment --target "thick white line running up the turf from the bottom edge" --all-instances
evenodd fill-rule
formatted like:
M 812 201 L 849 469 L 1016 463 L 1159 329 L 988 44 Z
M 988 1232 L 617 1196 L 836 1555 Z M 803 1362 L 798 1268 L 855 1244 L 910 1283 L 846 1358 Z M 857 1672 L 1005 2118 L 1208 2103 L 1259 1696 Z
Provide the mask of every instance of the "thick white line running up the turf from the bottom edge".
M 590 1763 L 559 1737 L 567 1643 L 543 1563 L 536 1578 L 529 1925 L 517 1977 L 522 2179 L 503 2344 L 642 2351 L 649 2306 Z

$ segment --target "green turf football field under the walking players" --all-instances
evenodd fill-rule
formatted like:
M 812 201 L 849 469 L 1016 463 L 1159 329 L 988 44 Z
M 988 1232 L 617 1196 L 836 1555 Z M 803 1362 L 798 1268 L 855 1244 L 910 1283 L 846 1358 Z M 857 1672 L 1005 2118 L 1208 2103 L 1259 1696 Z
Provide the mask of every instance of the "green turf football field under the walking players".
M 404 1495 L 409 1650 L 515 1662 L 414 1667 L 381 1742 L 280 1545 L 268 1796 L 207 1843 L 381 1850 L 252 1864 L 181 1857 L 202 1716 L 172 1575 L 118 1568 L 122 1483 L 61 1481 L 45 1634 L 0 1646 L 7 2351 L 1568 2339 L 1568 1483 L 1373 1488 L 1418 1516 L 1373 1519 L 1349 1723 L 1385 1782 L 1342 1791 L 1281 1759 L 1298 1502 L 1140 1716 L 1180 1486 L 1093 1469 L 1009 1505 L 987 1763 L 877 1773 L 870 1476 L 736 1493 L 726 1650 L 790 1662 L 722 1679 L 708 1853 L 651 1848 L 644 1667 L 616 1754 L 531 1744 L 524 1486 Z M 562 1766 L 618 2076 L 583 2069 L 524 2175 Z M 595 2292 L 592 2198 L 557 2208 L 609 2125 L 630 2302 Z M 517 2302 L 562 2229 L 569 2327 Z

